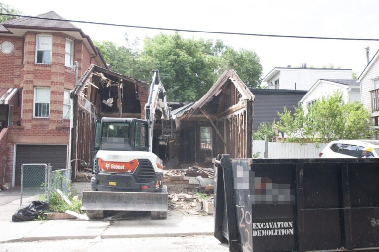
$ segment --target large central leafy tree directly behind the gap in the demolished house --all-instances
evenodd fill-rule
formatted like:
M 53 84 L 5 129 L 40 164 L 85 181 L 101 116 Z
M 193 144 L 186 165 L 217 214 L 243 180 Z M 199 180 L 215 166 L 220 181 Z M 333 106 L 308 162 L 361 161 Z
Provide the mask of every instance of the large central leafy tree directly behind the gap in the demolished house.
M 213 43 L 184 39 L 179 33 L 144 40 L 141 61 L 159 69 L 170 101 L 195 101 L 217 79 Z

